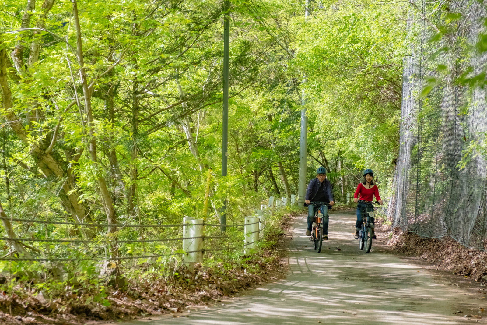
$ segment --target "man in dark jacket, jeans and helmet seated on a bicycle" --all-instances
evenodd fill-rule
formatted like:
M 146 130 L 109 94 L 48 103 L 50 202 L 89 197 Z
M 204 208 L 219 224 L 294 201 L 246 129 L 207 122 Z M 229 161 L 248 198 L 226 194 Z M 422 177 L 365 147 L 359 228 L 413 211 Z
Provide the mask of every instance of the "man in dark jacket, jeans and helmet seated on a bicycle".
M 316 171 L 316 178 L 312 179 L 308 184 L 306 190 L 306 197 L 304 206 L 308 207 L 308 229 L 306 236 L 311 236 L 311 229 L 313 227 L 313 218 L 318 206 L 313 205 L 313 202 L 324 202 L 321 205 L 321 213 L 323 214 L 323 239 L 328 239 L 328 207 L 335 204 L 333 200 L 332 183 L 326 179 L 326 169 L 319 167 Z M 311 203 L 311 204 L 310 204 Z

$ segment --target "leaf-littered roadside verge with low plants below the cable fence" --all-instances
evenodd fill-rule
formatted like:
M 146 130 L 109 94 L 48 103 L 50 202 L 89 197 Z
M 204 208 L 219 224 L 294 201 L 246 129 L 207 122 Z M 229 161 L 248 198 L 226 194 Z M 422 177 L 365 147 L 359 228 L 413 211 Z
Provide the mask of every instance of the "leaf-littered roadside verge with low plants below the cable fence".
M 225 257 L 208 258 L 192 271 L 181 263 L 174 265 L 170 272 L 145 263 L 133 270 L 134 276 L 127 277 L 128 285 L 123 290 L 109 284 L 101 292 L 99 287 L 74 291 L 66 286 L 58 288 L 56 295 L 54 291 L 39 295 L 28 279 L 13 280 L 15 287 L 0 292 L 0 324 L 80 325 L 134 319 L 178 312 L 188 305 L 239 295 L 244 289 L 281 278 L 286 265 L 281 259 L 279 241 L 290 217 L 297 213 L 285 211 L 273 217 L 259 248 L 252 254 L 229 252 Z M 104 303 L 94 299 L 100 294 Z

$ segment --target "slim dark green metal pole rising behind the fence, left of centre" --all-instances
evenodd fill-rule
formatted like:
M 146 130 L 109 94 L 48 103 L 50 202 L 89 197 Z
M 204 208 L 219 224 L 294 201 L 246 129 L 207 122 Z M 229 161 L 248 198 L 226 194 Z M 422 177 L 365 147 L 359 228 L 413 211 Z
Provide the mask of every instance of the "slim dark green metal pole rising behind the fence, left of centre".
M 223 134 L 222 134 L 222 176 L 226 176 L 227 159 L 228 159 L 228 61 L 230 52 L 230 1 L 224 2 L 224 20 L 223 20 Z M 220 223 L 226 225 L 226 200 L 222 208 Z M 226 227 L 221 226 L 225 231 Z

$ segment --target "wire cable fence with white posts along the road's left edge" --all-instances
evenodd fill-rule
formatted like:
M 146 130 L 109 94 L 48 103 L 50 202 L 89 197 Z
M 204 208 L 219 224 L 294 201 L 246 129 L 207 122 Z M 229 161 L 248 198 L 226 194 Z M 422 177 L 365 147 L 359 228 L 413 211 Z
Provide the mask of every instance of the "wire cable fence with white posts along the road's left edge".
M 273 199 L 270 202 L 273 204 Z M 279 209 L 281 208 L 279 207 Z M 0 256 L 0 261 L 64 263 L 78 261 L 115 261 L 118 263 L 128 260 L 158 259 L 163 257 L 174 258 L 178 256 L 182 256 L 185 259 L 187 256 L 194 255 L 195 253 L 218 254 L 220 252 L 248 252 L 249 247 L 255 248 L 250 244 L 255 244 L 262 240 L 262 238 L 259 238 L 259 234 L 263 232 L 269 217 L 274 211 L 274 206 L 272 209 L 256 211 L 255 216 L 258 217 L 258 221 L 229 225 L 206 222 L 204 219 L 190 220 L 193 218 L 185 218 L 185 221 L 181 224 L 105 224 L 0 216 L 2 222 L 16 222 L 24 227 L 31 227 L 33 224 L 45 226 L 45 229 L 43 229 L 45 230 L 45 235 L 43 236 L 40 235 L 43 231 L 42 229 L 31 237 L 9 237 L 8 231 L 6 236 L 0 236 L 1 241 L 10 245 L 10 252 L 4 256 Z M 55 228 L 57 226 L 75 226 L 75 228 L 103 227 L 107 231 L 100 230 L 94 238 L 79 238 L 82 236 L 82 232 L 79 232 L 77 238 L 56 238 L 56 236 L 61 235 L 54 231 L 49 233 L 47 229 L 51 226 Z M 228 233 L 221 233 L 222 226 L 228 229 Z M 257 227 L 257 231 L 245 230 L 249 227 Z M 160 230 L 148 232 L 146 231 L 147 229 Z M 198 229 L 195 235 L 187 235 L 191 233 L 187 231 L 194 231 L 195 229 Z M 123 236 L 120 234 L 121 230 L 126 231 L 123 233 Z M 66 231 L 61 233 L 66 234 Z M 244 243 L 242 239 L 248 235 L 257 235 L 256 240 L 251 243 Z M 133 236 L 137 236 L 137 238 L 135 239 Z M 195 249 L 194 243 L 196 242 L 202 242 L 203 244 L 198 249 Z M 30 249 L 31 256 L 25 256 L 14 251 L 12 249 L 13 243 L 25 245 L 26 248 Z M 28 246 L 25 243 L 33 243 L 37 246 Z M 172 244 L 168 245 L 170 243 Z

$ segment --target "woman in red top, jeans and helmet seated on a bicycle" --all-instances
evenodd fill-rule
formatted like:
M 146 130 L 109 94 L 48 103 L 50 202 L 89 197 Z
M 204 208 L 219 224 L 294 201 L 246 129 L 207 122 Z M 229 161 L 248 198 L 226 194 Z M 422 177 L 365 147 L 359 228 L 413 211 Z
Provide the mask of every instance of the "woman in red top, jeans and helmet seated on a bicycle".
M 359 183 L 357 186 L 357 190 L 354 194 L 354 202 L 357 203 L 357 221 L 355 223 L 355 233 L 354 238 L 358 239 L 358 231 L 360 227 L 362 227 L 363 219 L 362 213 L 360 208 L 365 208 L 367 204 L 371 204 L 374 201 L 374 196 L 379 204 L 382 204 L 382 200 L 379 196 L 379 190 L 377 189 L 377 185 L 374 184 L 374 172 L 371 169 L 366 169 L 363 173 L 364 181 Z M 360 199 L 358 199 L 358 194 L 360 194 Z M 376 239 L 374 227 L 372 227 L 372 238 Z

